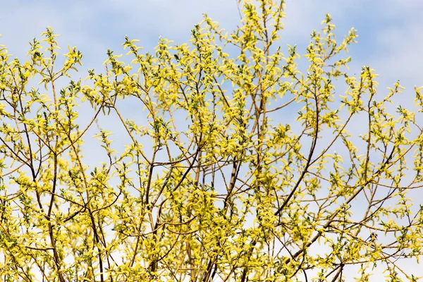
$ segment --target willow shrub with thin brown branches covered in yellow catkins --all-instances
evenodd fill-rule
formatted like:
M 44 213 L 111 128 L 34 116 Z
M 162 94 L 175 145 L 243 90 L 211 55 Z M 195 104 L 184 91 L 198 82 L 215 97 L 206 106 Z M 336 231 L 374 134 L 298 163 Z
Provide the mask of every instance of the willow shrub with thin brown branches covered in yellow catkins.
M 417 281 L 398 259 L 422 255 L 420 88 L 390 111 L 403 87 L 350 76 L 356 32 L 336 42 L 329 15 L 301 72 L 283 1 L 240 6 L 234 32 L 204 16 L 188 44 L 126 38 L 132 61 L 108 51 L 87 82 L 50 27 L 25 62 L 1 47 L 1 281 Z M 96 129 L 111 117 L 125 136 Z

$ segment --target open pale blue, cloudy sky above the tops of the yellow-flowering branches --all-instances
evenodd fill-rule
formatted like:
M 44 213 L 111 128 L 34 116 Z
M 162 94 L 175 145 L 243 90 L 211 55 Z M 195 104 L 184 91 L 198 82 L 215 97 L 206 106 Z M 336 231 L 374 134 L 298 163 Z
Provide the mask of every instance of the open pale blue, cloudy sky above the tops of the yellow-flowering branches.
M 29 41 L 51 26 L 62 51 L 76 46 L 83 54 L 78 78 L 87 69 L 104 72 L 106 50 L 125 54 L 125 35 L 140 39 L 139 46 L 152 51 L 159 36 L 178 43 L 188 42 L 190 30 L 202 20 L 202 13 L 229 32 L 239 24 L 236 0 L 155 1 L 0 1 L 0 44 L 13 57 L 25 61 Z M 351 27 L 358 32 L 357 44 L 349 47 L 350 70 L 360 73 L 369 65 L 379 74 L 379 93 L 400 80 L 406 87 L 394 102 L 411 108 L 413 88 L 423 85 L 423 1 L 422 0 L 287 0 L 285 30 L 281 44 L 298 44 L 305 53 L 309 34 L 320 30 L 321 20 L 330 13 L 341 40 Z M 59 52 L 60 54 L 60 52 Z M 421 117 L 421 116 L 420 116 Z M 93 148 L 92 152 L 96 152 Z M 416 265 L 409 265 L 415 269 Z M 418 274 L 418 271 L 415 272 Z M 421 271 L 423 276 L 423 271 Z M 378 281 L 377 276 L 374 276 Z M 373 281 L 373 280 L 372 280 Z

